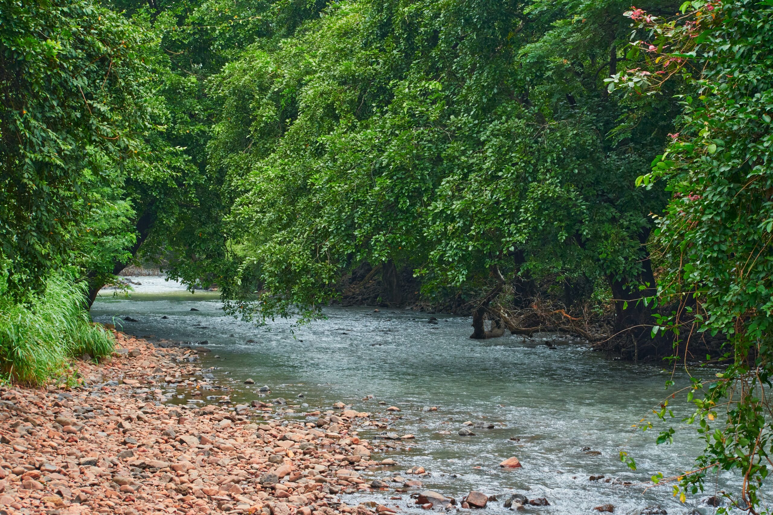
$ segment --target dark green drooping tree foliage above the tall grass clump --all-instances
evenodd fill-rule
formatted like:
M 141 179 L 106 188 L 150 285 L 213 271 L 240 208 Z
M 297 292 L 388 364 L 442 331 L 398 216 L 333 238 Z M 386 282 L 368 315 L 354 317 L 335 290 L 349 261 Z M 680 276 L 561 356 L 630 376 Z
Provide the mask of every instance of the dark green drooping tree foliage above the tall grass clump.
M 0 259 L 7 293 L 23 296 L 70 264 L 91 186 L 138 166 L 158 42 L 83 0 L 0 7 Z

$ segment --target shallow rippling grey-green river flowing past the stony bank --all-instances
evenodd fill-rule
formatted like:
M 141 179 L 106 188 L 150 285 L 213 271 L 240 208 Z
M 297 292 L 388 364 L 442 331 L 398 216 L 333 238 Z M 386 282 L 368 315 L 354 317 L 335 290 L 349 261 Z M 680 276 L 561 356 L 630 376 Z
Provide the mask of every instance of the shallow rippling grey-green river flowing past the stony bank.
M 390 418 L 384 408 L 399 407 L 401 418 L 390 418 L 388 430 L 416 439 L 402 442 L 403 449 L 389 457 L 400 463 L 397 469 L 407 479 L 412 477 L 404 474 L 409 466 L 424 466 L 432 474 L 421 479 L 425 488 L 457 498 L 481 490 L 499 497 L 487 510 L 501 513 L 506 511 L 502 500 L 509 497 L 505 494 L 512 492 L 551 503 L 528 507 L 526 513 L 598 513 L 593 508 L 604 503 L 613 504 L 615 513 L 642 513 L 645 507 L 668 513 L 715 511 L 701 506 L 706 494 L 683 504 L 669 486 L 645 491 L 647 485 L 589 480 L 604 475 L 640 483 L 657 472 L 671 476 L 691 469 L 692 457 L 703 446 L 679 418 L 672 423 L 677 432 L 670 446 L 655 445 L 662 422 L 648 432 L 631 427 L 648 414 L 658 422 L 652 408 L 668 395 L 664 384 L 670 371 L 611 361 L 579 341 L 555 335 L 474 341 L 467 317 L 438 314 L 438 323 L 431 324 L 433 315 L 413 310 L 329 308 L 327 320 L 308 326 L 292 328 L 278 320 L 255 327 L 224 315 L 216 293 L 191 294 L 156 277 L 132 279 L 142 285 L 131 297 L 100 296 L 91 310 L 94 320 L 120 322 L 129 334 L 208 341 L 212 352 L 203 354 L 202 366 L 217 367 L 216 379 L 237 389 L 233 400 L 258 398 L 257 387 L 269 385 L 268 399 L 308 404 L 298 411 L 324 411 L 342 401 Z M 138 321 L 123 321 L 126 316 Z M 247 378 L 254 379 L 253 389 L 243 384 Z M 686 373 L 674 379 L 677 387 L 684 385 Z M 369 395 L 373 398 L 363 400 Z M 673 402 L 678 415 L 687 412 L 678 399 Z M 468 421 L 491 422 L 495 429 L 473 427 L 475 436 L 458 435 Z M 381 432 L 363 428 L 359 436 L 376 442 L 373 436 Z M 621 450 L 636 460 L 636 471 L 620 462 Z M 523 468 L 499 468 L 510 456 L 517 456 Z M 368 473 L 374 479 L 390 474 Z M 728 482 L 737 483 L 733 477 L 719 478 L 720 484 Z M 400 502 L 412 501 L 404 495 Z

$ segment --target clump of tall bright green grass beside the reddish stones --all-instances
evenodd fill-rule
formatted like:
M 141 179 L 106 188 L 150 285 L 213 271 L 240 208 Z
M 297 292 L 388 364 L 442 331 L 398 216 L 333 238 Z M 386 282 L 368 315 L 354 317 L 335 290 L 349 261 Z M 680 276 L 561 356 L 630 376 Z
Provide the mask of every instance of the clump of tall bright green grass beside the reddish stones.
M 42 385 L 66 371 L 70 357 L 111 354 L 113 334 L 91 324 L 87 284 L 51 276 L 26 303 L 0 296 L 0 371 L 11 381 Z

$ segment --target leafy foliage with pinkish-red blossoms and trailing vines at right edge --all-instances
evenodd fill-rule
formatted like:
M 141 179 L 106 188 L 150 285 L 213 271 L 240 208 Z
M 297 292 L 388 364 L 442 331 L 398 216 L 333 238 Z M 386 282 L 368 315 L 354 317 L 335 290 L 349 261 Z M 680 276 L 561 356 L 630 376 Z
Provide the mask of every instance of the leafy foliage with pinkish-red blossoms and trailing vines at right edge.
M 673 192 L 656 238 L 665 263 L 659 293 L 678 300 L 678 308 L 656 330 L 669 328 L 688 341 L 703 331 L 725 334 L 731 364 L 716 378 L 693 381 L 696 412 L 688 422 L 700 425 L 707 447 L 698 471 L 678 479 L 695 493 L 710 469 L 738 470 L 741 492 L 728 496 L 753 513 L 773 434 L 766 393 L 773 366 L 771 7 L 685 2 L 673 19 L 628 12 L 652 42 L 632 45 L 644 66 L 610 80 L 612 90 L 648 95 L 659 94 L 666 80 L 685 84 L 677 130 L 638 179 L 646 188 L 665 182 Z M 721 424 L 714 422 L 720 406 Z

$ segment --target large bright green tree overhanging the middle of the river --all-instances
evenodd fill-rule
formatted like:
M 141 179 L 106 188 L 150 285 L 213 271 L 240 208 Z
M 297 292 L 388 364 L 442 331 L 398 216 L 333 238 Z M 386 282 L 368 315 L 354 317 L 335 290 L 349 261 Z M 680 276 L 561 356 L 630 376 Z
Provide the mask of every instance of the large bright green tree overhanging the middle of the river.
M 468 299 L 530 269 L 601 278 L 618 326 L 637 324 L 638 286 L 654 286 L 649 213 L 666 198 L 634 180 L 675 103 L 606 93 L 623 9 L 341 2 L 248 49 L 213 82 L 224 107 L 210 144 L 210 167 L 237 171 L 243 192 L 230 236 L 244 290 L 287 315 L 326 303 L 363 261 Z M 615 130 L 629 112 L 640 119 Z

